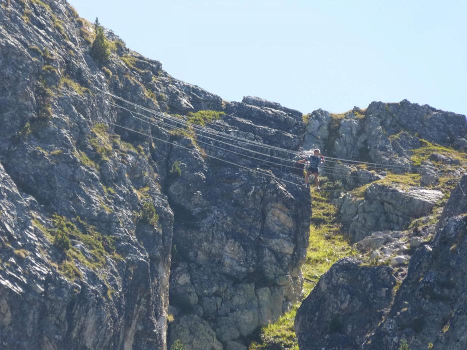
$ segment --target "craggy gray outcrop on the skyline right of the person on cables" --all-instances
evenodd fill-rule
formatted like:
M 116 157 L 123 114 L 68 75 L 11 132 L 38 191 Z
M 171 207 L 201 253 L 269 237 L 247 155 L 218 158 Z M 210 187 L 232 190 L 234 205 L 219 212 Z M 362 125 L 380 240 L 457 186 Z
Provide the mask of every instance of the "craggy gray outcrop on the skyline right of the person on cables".
M 435 130 L 441 129 L 437 132 Z M 393 172 L 408 171 L 390 165 L 410 163 L 410 149 L 422 145 L 421 139 L 462 150 L 467 137 L 464 115 L 420 106 L 403 100 L 399 103 L 372 102 L 364 117 L 347 112 L 334 141 L 334 156 L 364 158 L 387 164 Z M 417 135 L 417 136 L 415 136 Z

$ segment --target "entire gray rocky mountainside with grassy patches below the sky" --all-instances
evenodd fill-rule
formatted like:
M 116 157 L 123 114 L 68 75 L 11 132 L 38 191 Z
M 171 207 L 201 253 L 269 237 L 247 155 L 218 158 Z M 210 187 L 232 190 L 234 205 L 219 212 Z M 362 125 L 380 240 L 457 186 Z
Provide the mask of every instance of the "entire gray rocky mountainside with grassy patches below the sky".
M 0 0 L 5 348 L 465 347 L 464 115 L 229 102 L 105 36 Z M 313 215 L 278 147 L 332 157 Z

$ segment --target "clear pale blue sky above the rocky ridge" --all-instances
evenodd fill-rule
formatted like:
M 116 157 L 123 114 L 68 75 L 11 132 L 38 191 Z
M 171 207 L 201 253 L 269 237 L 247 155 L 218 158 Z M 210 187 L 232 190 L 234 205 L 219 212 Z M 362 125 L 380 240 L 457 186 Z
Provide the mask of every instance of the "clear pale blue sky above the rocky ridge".
M 407 98 L 467 114 L 464 0 L 69 1 L 227 100 L 342 112 Z

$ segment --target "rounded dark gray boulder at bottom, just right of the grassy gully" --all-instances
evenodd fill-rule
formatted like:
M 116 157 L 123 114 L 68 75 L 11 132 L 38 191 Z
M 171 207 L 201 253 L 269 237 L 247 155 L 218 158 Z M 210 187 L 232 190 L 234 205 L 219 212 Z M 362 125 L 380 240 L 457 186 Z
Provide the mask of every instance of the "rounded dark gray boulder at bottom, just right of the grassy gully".
M 390 303 L 395 285 L 391 271 L 388 266 L 360 266 L 354 258 L 336 262 L 297 311 L 300 348 L 360 348 Z

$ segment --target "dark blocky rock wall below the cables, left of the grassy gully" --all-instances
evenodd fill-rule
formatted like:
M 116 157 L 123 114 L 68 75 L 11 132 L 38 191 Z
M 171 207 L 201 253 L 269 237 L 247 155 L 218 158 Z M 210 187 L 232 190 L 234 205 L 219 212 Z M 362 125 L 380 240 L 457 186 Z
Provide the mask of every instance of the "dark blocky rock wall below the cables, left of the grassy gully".
M 169 345 L 183 341 L 183 315 L 194 313 L 218 341 L 232 346 L 299 297 L 309 195 L 243 169 L 208 166 L 201 156 L 174 148 L 169 163 L 176 161 L 192 170 L 182 169 L 167 183 L 177 249 Z

